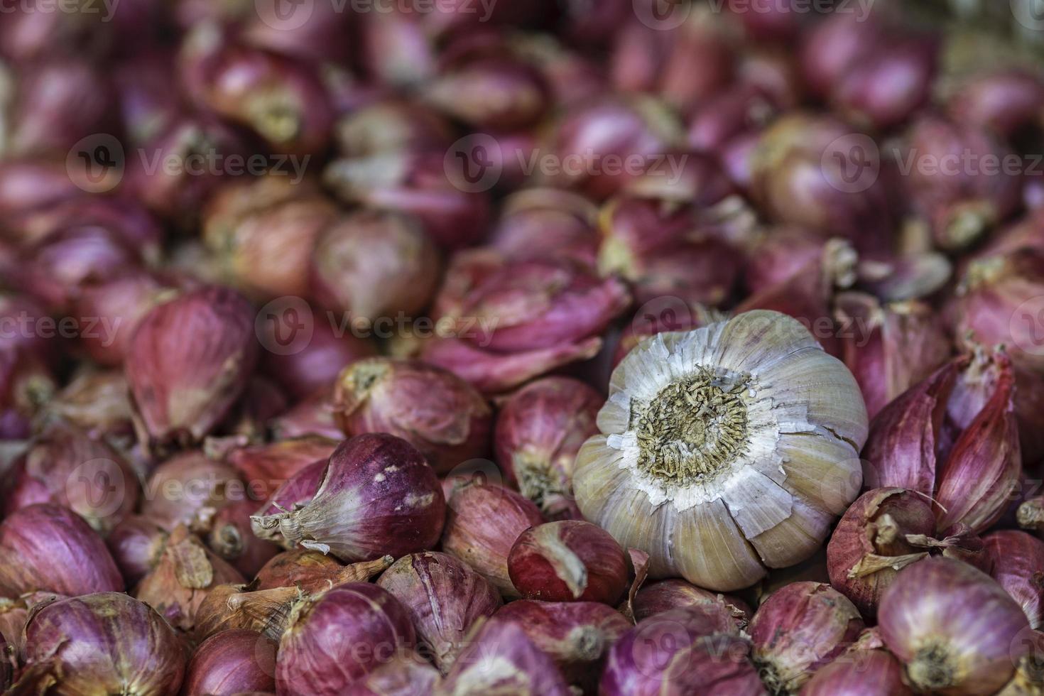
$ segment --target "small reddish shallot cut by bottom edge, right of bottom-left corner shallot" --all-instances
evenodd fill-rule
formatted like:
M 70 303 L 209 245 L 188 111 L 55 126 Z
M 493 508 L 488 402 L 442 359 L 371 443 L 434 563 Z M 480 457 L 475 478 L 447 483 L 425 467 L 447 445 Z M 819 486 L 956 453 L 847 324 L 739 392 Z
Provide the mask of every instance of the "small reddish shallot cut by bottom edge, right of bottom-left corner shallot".
M 276 643 L 250 630 L 227 630 L 199 644 L 185 672 L 188 694 L 233 696 L 276 689 Z

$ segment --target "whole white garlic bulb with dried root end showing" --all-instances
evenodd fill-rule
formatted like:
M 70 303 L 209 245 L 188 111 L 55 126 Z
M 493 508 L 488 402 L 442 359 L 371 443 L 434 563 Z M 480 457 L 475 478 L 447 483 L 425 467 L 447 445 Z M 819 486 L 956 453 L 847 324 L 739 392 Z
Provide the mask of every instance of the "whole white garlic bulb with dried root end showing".
M 752 311 L 640 343 L 576 457 L 584 517 L 654 577 L 745 587 L 810 556 L 862 482 L 867 407 L 798 320 Z

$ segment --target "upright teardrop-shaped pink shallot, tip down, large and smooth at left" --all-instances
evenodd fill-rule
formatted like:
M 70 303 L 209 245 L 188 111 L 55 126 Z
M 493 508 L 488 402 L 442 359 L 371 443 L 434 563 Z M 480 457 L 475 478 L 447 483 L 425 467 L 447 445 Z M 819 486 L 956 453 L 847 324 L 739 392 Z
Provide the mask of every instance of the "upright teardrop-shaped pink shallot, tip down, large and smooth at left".
M 242 393 L 257 351 L 254 310 L 233 290 L 204 287 L 152 309 L 124 362 L 141 439 L 201 440 Z

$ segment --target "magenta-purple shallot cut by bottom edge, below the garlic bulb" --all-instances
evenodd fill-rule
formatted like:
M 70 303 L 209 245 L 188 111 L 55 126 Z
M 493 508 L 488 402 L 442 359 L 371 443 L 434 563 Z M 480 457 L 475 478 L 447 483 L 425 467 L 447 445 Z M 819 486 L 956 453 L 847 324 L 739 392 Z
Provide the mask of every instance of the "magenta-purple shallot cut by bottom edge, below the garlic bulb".
M 765 688 L 749 654 L 731 617 L 695 606 L 670 609 L 640 622 L 612 647 L 598 693 L 699 693 L 713 685 L 722 693 L 761 696 Z

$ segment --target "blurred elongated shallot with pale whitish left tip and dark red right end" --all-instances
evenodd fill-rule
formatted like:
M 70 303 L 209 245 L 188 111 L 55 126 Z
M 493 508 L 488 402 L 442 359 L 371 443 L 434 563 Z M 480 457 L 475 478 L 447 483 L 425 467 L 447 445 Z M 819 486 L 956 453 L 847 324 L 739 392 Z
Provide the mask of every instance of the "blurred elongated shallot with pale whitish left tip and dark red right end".
M 343 200 L 414 217 L 440 247 L 456 249 L 485 236 L 490 200 L 448 162 L 443 149 L 382 152 L 335 160 L 324 178 Z

